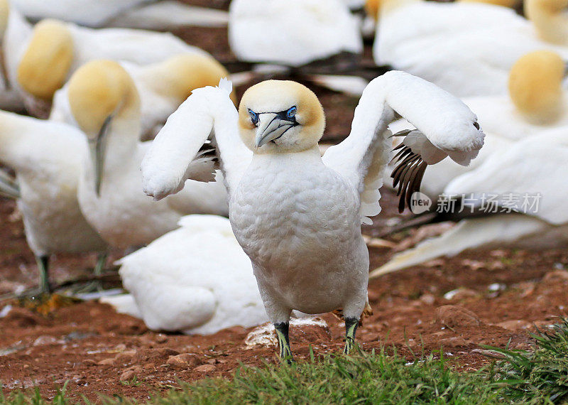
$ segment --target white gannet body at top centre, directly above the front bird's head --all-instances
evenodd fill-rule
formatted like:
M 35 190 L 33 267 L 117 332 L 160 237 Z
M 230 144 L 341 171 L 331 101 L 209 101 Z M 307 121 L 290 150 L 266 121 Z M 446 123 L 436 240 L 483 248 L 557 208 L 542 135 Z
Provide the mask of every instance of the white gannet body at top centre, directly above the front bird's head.
M 233 0 L 229 43 L 240 60 L 291 66 L 363 50 L 359 23 L 341 0 Z

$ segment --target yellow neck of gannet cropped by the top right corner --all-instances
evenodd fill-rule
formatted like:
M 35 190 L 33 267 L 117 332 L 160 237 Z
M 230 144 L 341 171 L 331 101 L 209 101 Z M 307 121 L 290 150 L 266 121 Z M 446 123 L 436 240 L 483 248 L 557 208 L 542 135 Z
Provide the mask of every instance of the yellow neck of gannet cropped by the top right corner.
M 568 45 L 568 0 L 526 0 L 525 15 L 544 41 Z

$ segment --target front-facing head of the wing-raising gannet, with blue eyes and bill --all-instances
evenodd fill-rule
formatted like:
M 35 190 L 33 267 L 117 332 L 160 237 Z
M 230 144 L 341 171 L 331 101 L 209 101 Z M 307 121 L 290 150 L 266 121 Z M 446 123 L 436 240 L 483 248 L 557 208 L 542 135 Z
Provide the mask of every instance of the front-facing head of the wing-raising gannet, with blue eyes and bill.
M 255 153 L 305 151 L 317 146 L 324 128 L 320 100 L 297 82 L 258 83 L 246 90 L 239 105 L 241 139 Z

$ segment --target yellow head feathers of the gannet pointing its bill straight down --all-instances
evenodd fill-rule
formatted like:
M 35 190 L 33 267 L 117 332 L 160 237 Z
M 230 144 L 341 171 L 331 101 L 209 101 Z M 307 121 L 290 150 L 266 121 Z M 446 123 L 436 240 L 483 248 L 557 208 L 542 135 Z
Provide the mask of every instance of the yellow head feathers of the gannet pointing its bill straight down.
M 99 133 L 109 117 L 136 117 L 140 113 L 138 90 L 130 75 L 112 60 L 82 65 L 69 80 L 71 112 L 87 136 Z

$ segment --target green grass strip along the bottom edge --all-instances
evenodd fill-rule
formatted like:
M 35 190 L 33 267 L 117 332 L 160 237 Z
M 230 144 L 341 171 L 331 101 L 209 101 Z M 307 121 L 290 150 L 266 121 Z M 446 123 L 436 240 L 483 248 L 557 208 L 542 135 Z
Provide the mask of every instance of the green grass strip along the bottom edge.
M 384 350 L 314 358 L 295 365 L 241 367 L 234 378 L 181 384 L 155 395 L 165 404 L 562 404 L 568 401 L 568 321 L 534 335 L 532 352 L 503 355 L 491 368 L 457 372 L 433 355 L 408 362 Z M 74 404 L 65 387 L 54 404 Z M 82 401 L 84 402 L 84 400 Z M 0 404 L 48 402 L 37 391 L 0 394 Z M 104 399 L 107 404 L 134 404 Z

